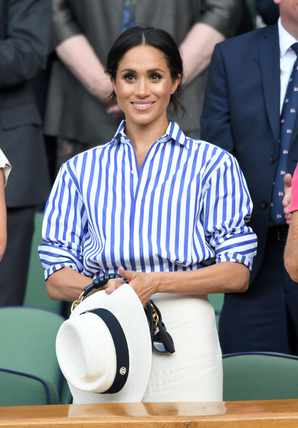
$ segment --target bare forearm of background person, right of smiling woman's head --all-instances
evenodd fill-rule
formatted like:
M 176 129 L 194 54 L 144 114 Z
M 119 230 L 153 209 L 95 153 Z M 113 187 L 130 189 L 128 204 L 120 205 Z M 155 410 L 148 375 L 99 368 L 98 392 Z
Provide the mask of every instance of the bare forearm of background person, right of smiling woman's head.
M 215 28 L 202 22 L 194 24 L 180 46 L 186 84 L 209 66 L 215 45 L 224 39 L 224 35 Z

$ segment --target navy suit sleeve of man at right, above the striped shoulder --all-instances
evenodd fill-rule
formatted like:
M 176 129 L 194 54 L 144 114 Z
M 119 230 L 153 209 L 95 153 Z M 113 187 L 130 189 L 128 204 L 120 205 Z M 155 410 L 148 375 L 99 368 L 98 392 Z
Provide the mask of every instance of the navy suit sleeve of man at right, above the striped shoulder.
M 229 91 L 221 57 L 215 46 L 205 89 L 200 138 L 235 154 L 229 109 Z

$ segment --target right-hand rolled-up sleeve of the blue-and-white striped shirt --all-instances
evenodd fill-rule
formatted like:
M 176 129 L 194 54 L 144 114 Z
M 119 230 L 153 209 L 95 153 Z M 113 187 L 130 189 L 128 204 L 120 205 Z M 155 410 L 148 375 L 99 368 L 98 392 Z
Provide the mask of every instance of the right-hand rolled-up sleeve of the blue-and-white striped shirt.
M 237 160 L 232 155 L 226 156 L 205 184 L 206 241 L 215 253 L 216 263 L 240 262 L 251 270 L 257 238 L 246 223 L 253 205 Z

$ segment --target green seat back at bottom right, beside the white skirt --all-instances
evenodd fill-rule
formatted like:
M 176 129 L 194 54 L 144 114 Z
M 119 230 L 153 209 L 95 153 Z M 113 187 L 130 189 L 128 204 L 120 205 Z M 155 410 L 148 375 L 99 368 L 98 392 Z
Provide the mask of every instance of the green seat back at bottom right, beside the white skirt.
M 274 353 L 223 355 L 224 401 L 298 398 L 298 357 Z

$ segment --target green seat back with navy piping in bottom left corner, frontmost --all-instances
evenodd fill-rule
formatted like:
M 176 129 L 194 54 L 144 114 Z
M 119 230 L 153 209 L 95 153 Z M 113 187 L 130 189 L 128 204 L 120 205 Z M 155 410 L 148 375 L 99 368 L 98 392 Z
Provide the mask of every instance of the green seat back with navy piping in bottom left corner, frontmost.
M 57 389 L 46 379 L 0 369 L 0 406 L 59 404 Z

